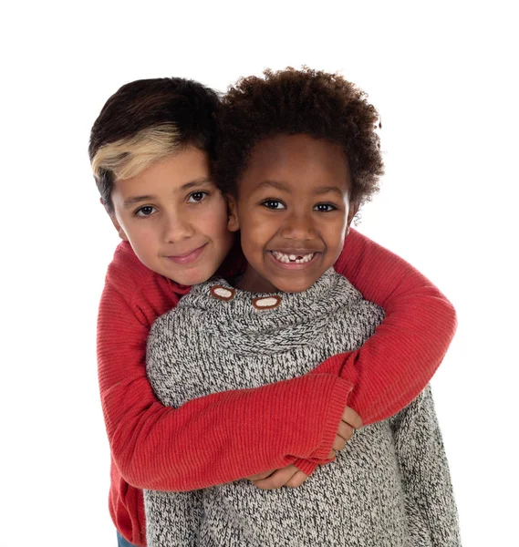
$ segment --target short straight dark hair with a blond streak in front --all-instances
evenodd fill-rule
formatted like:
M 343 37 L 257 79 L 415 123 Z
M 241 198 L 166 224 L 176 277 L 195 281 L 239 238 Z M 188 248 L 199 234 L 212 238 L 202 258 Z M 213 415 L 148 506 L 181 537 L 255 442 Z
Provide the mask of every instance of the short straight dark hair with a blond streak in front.
M 94 122 L 88 146 L 107 211 L 113 212 L 110 194 L 118 170 L 135 176 L 152 161 L 188 145 L 213 158 L 219 106 L 213 89 L 181 77 L 137 80 L 119 88 Z

